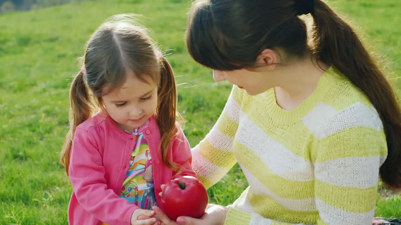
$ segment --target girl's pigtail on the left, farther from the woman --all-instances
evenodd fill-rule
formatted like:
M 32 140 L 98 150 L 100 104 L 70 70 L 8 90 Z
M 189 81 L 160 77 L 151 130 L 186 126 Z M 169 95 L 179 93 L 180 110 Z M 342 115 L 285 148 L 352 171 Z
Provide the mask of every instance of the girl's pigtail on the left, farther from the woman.
M 67 175 L 70 164 L 71 144 L 75 129 L 78 125 L 89 119 L 93 109 L 93 104 L 89 98 L 89 91 L 83 79 L 84 74 L 79 72 L 73 79 L 70 88 L 70 110 L 69 125 L 70 129 L 65 136 L 63 150 L 61 151 L 60 163 L 65 166 Z

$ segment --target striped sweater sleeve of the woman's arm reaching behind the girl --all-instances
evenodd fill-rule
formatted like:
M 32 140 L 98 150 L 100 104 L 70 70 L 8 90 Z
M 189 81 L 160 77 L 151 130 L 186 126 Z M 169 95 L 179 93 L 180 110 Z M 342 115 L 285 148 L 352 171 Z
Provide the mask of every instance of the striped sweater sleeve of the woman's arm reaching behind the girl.
M 238 129 L 241 101 L 241 89 L 234 86 L 217 123 L 192 149 L 192 167 L 207 189 L 222 179 L 237 162 L 232 145 Z

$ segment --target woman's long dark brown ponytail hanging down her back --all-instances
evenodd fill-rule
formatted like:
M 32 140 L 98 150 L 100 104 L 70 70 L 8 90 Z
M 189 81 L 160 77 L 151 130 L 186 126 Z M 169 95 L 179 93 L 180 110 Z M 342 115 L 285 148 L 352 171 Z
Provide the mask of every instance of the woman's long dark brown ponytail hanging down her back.
M 401 110 L 391 84 L 355 31 L 326 3 L 316 0 L 312 16 L 314 54 L 365 92 L 379 112 L 388 148 L 380 176 L 387 186 L 401 188 Z

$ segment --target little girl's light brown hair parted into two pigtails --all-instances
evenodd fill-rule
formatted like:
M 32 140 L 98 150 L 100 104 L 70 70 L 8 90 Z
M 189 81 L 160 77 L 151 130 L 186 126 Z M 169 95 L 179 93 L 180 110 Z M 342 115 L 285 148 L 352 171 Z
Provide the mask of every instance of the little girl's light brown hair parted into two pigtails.
M 156 121 L 160 129 L 160 147 L 164 163 L 174 171 L 178 164 L 167 159 L 168 147 L 177 133 L 177 96 L 173 70 L 146 28 L 117 15 L 103 23 L 87 42 L 83 57 L 85 70 L 74 78 L 70 88 L 69 132 L 61 151 L 61 163 L 68 175 L 69 157 L 75 129 L 98 112 L 105 110 L 101 96 L 121 87 L 130 69 L 144 82 L 152 80 L 158 85 Z M 106 92 L 104 88 L 108 87 Z M 103 91 L 102 91 L 103 90 Z

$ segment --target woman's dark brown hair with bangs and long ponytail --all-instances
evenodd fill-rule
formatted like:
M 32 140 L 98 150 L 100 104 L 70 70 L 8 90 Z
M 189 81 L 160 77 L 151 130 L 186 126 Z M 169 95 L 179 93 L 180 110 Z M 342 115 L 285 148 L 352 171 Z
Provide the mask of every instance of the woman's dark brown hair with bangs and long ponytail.
M 310 32 L 299 17 L 309 13 Z M 388 148 L 380 176 L 387 186 L 401 188 L 401 110 L 395 93 L 353 28 L 322 0 L 196 0 L 186 46 L 196 62 L 216 70 L 253 68 L 264 49 L 281 49 L 292 58 L 312 53 L 332 66 L 379 112 Z

